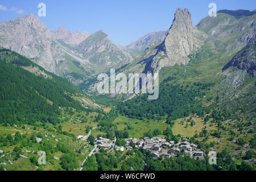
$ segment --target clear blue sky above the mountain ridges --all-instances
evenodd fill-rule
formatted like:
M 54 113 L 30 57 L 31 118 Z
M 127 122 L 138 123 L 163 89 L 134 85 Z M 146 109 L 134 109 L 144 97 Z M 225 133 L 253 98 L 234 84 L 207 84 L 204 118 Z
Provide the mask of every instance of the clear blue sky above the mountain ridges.
M 217 10 L 256 9 L 255 0 L 0 0 L 0 22 L 33 13 L 38 16 L 38 4 L 46 4 L 46 17 L 40 19 L 54 30 L 64 26 L 71 31 L 89 33 L 104 30 L 115 44 L 127 44 L 149 32 L 168 30 L 177 7 L 187 7 L 193 24 L 208 15 L 209 3 Z

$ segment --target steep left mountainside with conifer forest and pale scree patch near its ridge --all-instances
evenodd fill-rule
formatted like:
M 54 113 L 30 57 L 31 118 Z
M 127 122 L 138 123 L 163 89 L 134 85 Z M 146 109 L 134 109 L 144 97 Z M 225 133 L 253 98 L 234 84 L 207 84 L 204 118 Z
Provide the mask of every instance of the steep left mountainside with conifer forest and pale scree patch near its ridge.
M 16 52 L 0 49 L 0 63 L 1 110 L 9 108 L 7 103 L 15 105 L 9 108 L 13 112 L 24 111 L 28 115 L 37 115 L 40 112 L 51 115 L 56 113 L 59 107 L 73 107 L 79 110 L 97 107 L 70 82 L 47 72 Z M 39 113 L 34 113 L 36 110 Z M 6 110 L 5 114 L 8 113 L 14 114 L 12 117 L 17 114 Z

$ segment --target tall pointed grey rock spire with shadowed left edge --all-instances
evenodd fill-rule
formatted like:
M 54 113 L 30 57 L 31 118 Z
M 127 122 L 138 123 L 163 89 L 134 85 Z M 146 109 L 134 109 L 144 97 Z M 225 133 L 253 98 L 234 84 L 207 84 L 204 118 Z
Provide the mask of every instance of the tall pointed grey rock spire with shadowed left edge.
M 189 53 L 199 49 L 205 37 L 203 32 L 193 27 L 188 9 L 177 9 L 166 38 L 145 71 L 158 72 L 163 67 L 187 64 Z

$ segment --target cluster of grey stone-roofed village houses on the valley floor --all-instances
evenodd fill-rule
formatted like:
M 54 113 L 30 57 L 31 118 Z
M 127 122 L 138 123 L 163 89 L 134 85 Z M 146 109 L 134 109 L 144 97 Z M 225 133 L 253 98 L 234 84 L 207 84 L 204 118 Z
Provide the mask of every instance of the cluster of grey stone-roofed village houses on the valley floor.
M 140 149 L 142 148 L 143 151 L 150 150 L 152 158 L 159 158 L 162 156 L 163 158 L 170 158 L 171 156 L 176 156 L 176 154 L 180 151 L 184 151 L 185 154 L 191 157 L 204 157 L 204 152 L 201 151 L 196 144 L 189 143 L 186 138 L 180 140 L 178 143 L 175 144 L 174 141 L 167 142 L 164 137 L 154 137 L 154 138 L 147 138 L 144 137 L 143 139 L 136 139 L 136 138 L 127 138 L 126 146 L 116 146 L 114 140 L 110 140 L 107 138 L 94 138 L 94 144 L 96 146 L 94 152 L 99 152 L 101 148 L 104 150 L 133 150 L 132 145 L 135 148 Z

